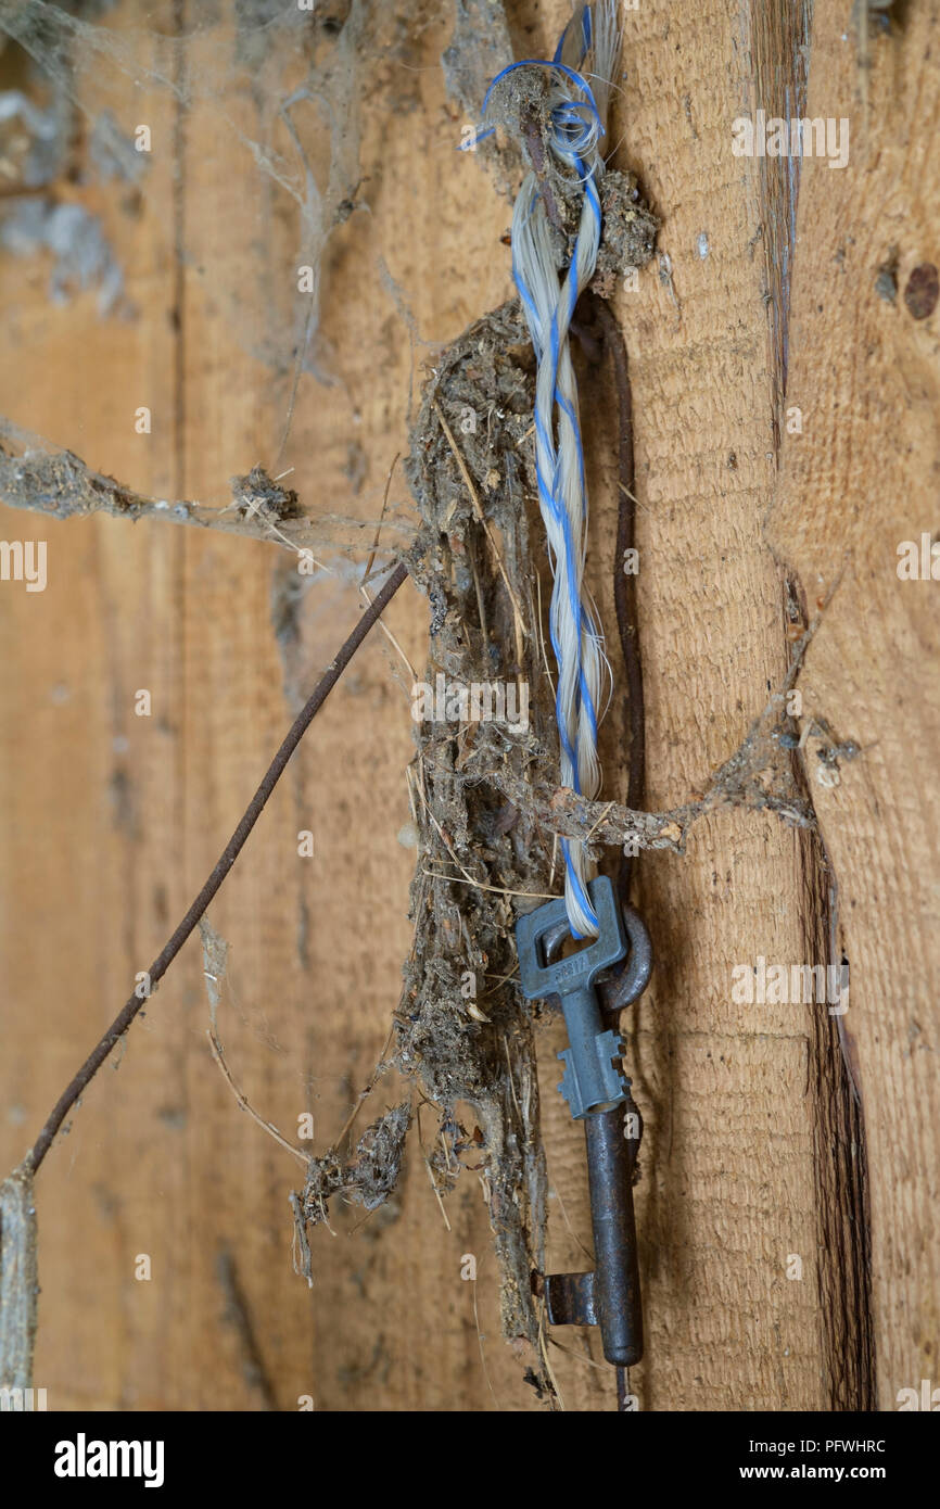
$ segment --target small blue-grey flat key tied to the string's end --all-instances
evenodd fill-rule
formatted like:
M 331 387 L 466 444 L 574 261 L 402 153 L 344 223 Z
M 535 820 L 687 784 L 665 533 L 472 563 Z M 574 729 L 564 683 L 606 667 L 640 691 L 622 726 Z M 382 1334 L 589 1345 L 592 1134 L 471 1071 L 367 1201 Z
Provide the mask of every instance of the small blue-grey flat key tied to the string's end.
M 558 1055 L 566 1065 L 558 1089 L 575 1121 L 591 1112 L 613 1111 L 626 1100 L 626 1080 L 614 1068 L 623 1043 L 617 1032 L 604 1026 L 594 981 L 626 955 L 629 939 L 613 881 L 597 875 L 588 890 L 599 933 L 567 958 L 554 958 L 569 933 L 563 899 L 549 901 L 516 924 L 522 993 L 528 1000 L 546 996 L 561 1000 L 569 1047 Z

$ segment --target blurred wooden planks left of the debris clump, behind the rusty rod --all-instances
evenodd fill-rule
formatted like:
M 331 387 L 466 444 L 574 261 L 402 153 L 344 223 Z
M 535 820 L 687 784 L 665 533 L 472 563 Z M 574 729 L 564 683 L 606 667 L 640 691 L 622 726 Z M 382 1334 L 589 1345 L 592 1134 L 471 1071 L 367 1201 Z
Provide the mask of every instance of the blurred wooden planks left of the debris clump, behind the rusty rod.
M 142 21 L 133 6 L 124 18 Z M 178 21 L 169 8 L 146 18 L 166 30 Z M 435 184 L 453 174 L 457 124 L 436 68 L 447 23 L 432 15 L 427 29 L 418 20 L 397 32 L 389 18 L 364 81 L 374 213 L 353 214 L 327 258 L 323 332 L 335 382 L 303 377 L 282 459 L 305 506 L 365 521 L 377 519 L 406 444 L 409 383 L 425 350 L 508 291 L 507 267 L 493 261 L 487 273 L 483 255 L 508 211 L 475 163 L 460 160 L 450 229 L 438 225 L 433 241 L 412 234 Z M 217 47 L 229 56 L 234 35 Z M 291 353 L 279 370 L 260 361 L 269 326 L 258 290 L 290 305 L 296 219 L 238 139 L 235 124 L 260 133 L 250 94 L 226 113 L 213 101 L 177 112 L 172 95 L 128 94 L 106 74 L 97 104 L 109 103 L 122 124 L 148 121 L 155 143 L 143 217 L 106 204 L 137 317 L 101 323 L 91 294 L 53 308 L 47 263 L 6 258 L 17 362 L 6 365 L 3 410 L 143 492 L 223 501 L 235 472 L 257 460 L 275 468 Z M 416 157 L 430 164 L 419 184 L 409 181 Z M 152 409 L 151 436 L 134 435 L 137 404 Z M 398 477 L 392 504 L 404 496 Z M 30 534 L 29 515 L 5 518 L 6 537 Z M 341 570 L 303 598 L 296 640 L 279 644 L 290 563 L 275 546 L 113 521 L 33 533 L 48 536 L 50 585 L 26 596 L 5 584 L 0 599 L 5 640 L 17 646 L 0 670 L 11 1163 L 192 899 L 296 699 L 359 611 Z M 416 595 L 389 623 L 419 659 L 427 611 Z M 133 715 L 140 687 L 152 693 L 149 720 Z M 211 914 L 231 943 L 220 1035 L 232 1071 L 288 1136 L 312 1111 L 318 1150 L 368 1079 L 398 997 L 413 853 L 395 834 L 409 818 L 410 750 L 406 676 L 376 635 Z M 297 856 L 302 828 L 315 834 L 312 859 Z M 498 1337 L 478 1185 L 468 1180 L 451 1201 L 448 1233 L 415 1141 L 386 1210 L 364 1225 L 361 1209 L 339 1210 L 336 1239 L 320 1228 L 308 1292 L 291 1269 L 288 1192 L 302 1169 L 238 1112 L 207 1025 L 192 943 L 118 1073 L 103 1071 L 44 1169 L 36 1376 L 50 1408 L 257 1409 L 273 1400 L 294 1409 L 312 1394 L 324 1409 L 481 1409 L 490 1381 L 502 1405 L 534 1406 Z M 386 1089 L 367 1115 L 383 1109 Z M 490 1381 L 475 1286 L 460 1280 L 468 1251 L 480 1260 Z M 149 1283 L 134 1278 L 139 1252 L 152 1259 Z

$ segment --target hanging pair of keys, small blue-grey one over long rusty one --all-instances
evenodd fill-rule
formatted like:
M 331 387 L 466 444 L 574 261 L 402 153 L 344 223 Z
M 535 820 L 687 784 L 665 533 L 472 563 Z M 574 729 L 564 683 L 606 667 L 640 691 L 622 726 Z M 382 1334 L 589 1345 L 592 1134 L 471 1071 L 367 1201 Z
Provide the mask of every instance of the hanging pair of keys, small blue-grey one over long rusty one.
M 572 1117 L 584 1121 L 594 1236 L 594 1271 L 546 1275 L 545 1301 L 552 1325 L 597 1325 L 607 1361 L 631 1367 L 643 1357 L 632 1191 L 641 1121 L 629 1079 L 614 1065 L 623 1043 L 605 1028 L 597 990 L 608 1010 L 635 1000 L 649 981 L 652 949 L 643 920 L 619 904 L 607 877 L 593 880 L 588 890 L 599 936 L 576 954 L 558 957 L 570 936 L 564 901 L 551 901 L 516 924 L 524 994 L 530 1000 L 557 996 L 564 1013 L 569 1047 L 558 1055 L 566 1064 L 558 1089 Z M 601 972 L 622 960 L 617 979 L 602 987 Z

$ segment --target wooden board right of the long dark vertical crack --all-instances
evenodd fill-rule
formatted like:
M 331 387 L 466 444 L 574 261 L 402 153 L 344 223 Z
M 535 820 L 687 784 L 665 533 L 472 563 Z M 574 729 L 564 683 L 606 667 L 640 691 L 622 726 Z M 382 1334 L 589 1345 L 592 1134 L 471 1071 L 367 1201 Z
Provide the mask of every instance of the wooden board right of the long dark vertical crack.
M 917 8 L 872 39 L 866 112 L 845 18 L 816 6 L 809 115 L 848 119 L 851 149 L 842 171 L 803 163 L 788 389 L 803 433 L 785 433 L 768 528 L 819 622 L 800 690 L 804 729 L 830 730 L 807 765 L 851 967 L 881 1409 L 937 1366 L 935 584 L 896 573 L 898 545 L 937 528 L 937 315 L 904 300 L 911 270 L 937 263 L 937 20 Z M 837 741 L 860 753 L 821 785 Z

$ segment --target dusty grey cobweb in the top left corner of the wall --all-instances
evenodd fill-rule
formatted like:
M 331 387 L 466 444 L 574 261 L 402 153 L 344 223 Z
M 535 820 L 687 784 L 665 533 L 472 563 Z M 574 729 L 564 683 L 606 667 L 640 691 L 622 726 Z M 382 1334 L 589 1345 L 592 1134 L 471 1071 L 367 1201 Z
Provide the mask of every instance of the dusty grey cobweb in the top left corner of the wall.
M 284 0 L 163 0 L 148 9 L 151 27 L 131 29 L 103 0 L 68 8 L 0 0 L 3 74 L 15 72 L 20 85 L 0 91 L 0 157 L 6 166 L 12 155 L 6 178 L 18 178 L 24 190 L 20 201 L 8 181 L 0 240 L 15 252 L 42 246 L 57 257 L 53 297 L 66 297 L 69 285 L 92 285 L 103 314 L 119 311 L 121 273 L 91 216 L 83 220 L 75 205 L 44 207 L 36 189 L 68 171 L 81 137 L 81 172 L 112 180 L 116 192 L 130 181 L 146 193 L 148 160 L 133 145 L 142 103 L 154 92 L 166 100 L 177 174 L 190 121 L 211 112 L 214 130 L 243 149 L 244 177 L 219 187 L 231 232 L 258 254 L 255 287 L 243 284 L 243 261 L 220 266 L 208 254 L 202 238 L 217 235 L 217 226 L 207 229 L 202 216 L 178 226 L 177 254 L 199 278 L 211 278 L 211 296 L 240 344 L 284 383 L 290 413 L 303 371 L 333 380 L 320 341 L 320 269 L 332 229 L 356 208 L 361 69 L 383 45 L 380 11 L 374 0 L 317 0 L 315 9 Z M 272 276 L 264 255 L 285 226 L 291 261 L 309 269 L 303 290 L 297 278 Z M 282 447 L 285 433 L 272 441 Z

